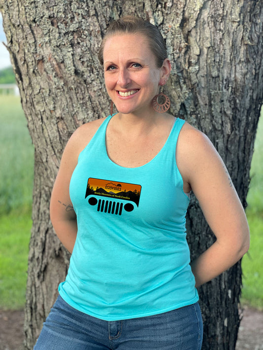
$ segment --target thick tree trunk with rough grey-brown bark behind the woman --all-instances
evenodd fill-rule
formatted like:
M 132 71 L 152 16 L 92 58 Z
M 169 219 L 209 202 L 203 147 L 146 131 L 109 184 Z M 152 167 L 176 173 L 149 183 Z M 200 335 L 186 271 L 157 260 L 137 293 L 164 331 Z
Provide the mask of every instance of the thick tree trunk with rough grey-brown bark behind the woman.
M 171 112 L 196 126 L 223 157 L 246 206 L 263 102 L 261 0 L 0 0 L 7 47 L 35 146 L 25 349 L 32 349 L 64 280 L 69 254 L 49 219 L 49 198 L 66 141 L 82 123 L 109 114 L 97 51 L 109 21 L 135 14 L 166 37 Z M 192 257 L 214 241 L 193 198 Z M 203 349 L 234 349 L 241 267 L 199 288 Z

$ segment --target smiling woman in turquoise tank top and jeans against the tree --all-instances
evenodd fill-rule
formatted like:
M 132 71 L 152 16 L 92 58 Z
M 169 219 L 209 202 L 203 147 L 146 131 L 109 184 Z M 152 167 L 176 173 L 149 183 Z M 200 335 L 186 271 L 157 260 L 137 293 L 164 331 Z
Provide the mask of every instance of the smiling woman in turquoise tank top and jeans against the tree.
M 158 29 L 115 21 L 99 58 L 118 113 L 63 153 L 50 215 L 72 257 L 34 349 L 201 349 L 196 287 L 247 251 L 244 210 L 211 142 L 156 97 L 171 71 Z M 191 266 L 190 191 L 217 238 Z

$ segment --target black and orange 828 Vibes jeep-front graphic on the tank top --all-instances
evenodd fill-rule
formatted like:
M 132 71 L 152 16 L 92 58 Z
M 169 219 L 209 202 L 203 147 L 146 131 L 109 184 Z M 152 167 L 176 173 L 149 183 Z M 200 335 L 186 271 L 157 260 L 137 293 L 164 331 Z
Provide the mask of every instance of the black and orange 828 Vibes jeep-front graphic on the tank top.
M 97 211 L 121 215 L 123 209 L 130 212 L 135 205 L 139 207 L 141 189 L 134 183 L 89 177 L 85 199 L 89 197 L 88 203 L 97 206 Z

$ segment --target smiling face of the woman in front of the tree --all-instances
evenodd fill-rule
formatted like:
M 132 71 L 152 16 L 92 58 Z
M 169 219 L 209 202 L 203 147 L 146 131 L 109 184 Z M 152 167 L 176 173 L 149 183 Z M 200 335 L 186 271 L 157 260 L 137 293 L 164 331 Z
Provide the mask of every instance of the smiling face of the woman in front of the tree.
M 146 36 L 110 36 L 104 46 L 104 77 L 107 92 L 120 113 L 142 113 L 151 108 L 158 93 L 163 68 L 158 68 Z

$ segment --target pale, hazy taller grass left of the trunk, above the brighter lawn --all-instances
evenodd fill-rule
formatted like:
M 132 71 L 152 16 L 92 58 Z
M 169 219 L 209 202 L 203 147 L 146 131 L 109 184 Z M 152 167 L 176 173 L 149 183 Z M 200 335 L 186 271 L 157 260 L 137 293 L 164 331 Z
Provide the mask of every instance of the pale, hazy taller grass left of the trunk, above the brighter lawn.
M 0 96 L 0 215 L 32 206 L 34 147 L 17 96 Z

